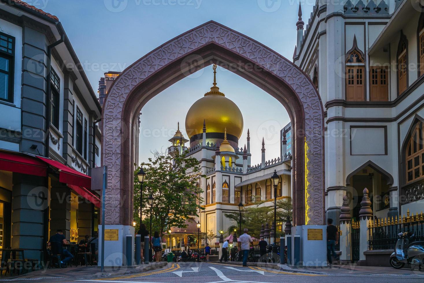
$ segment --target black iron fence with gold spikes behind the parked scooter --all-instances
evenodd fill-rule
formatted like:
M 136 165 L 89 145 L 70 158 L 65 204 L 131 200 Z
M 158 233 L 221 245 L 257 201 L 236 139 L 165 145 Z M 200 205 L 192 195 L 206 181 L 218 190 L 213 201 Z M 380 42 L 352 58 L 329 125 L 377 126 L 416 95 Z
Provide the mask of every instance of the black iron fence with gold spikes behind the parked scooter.
M 421 212 L 410 216 L 409 210 L 407 216 L 396 216 L 392 219 L 376 219 L 368 227 L 369 249 L 370 250 L 392 250 L 398 239 L 400 232 L 412 232 L 415 237 L 413 241 L 424 241 L 424 217 Z

